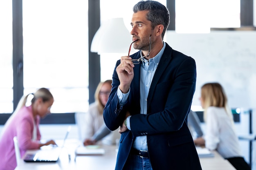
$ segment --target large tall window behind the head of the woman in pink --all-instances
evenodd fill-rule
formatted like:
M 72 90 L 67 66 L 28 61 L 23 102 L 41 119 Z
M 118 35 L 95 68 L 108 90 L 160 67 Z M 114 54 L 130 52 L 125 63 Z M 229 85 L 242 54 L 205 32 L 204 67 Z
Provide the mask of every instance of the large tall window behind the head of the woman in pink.
M 49 88 L 52 113 L 88 109 L 88 1 L 23 0 L 24 94 Z

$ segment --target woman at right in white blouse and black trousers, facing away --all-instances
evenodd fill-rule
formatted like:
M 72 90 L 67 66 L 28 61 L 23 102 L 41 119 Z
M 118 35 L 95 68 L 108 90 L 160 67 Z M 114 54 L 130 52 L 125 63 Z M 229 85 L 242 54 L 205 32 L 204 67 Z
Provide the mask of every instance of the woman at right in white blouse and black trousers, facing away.
M 207 83 L 200 97 L 206 123 L 205 146 L 227 159 L 236 170 L 250 170 L 242 156 L 227 95 L 219 83 Z

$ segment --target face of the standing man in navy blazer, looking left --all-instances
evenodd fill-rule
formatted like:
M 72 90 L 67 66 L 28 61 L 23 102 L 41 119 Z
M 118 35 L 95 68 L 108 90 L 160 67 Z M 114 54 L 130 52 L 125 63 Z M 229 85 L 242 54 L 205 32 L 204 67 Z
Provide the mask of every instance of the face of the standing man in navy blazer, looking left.
M 149 37 L 153 30 L 151 29 L 151 22 L 146 19 L 147 13 L 148 11 L 139 11 L 132 15 L 132 31 L 130 33 L 132 41 L 138 40 L 133 44 L 134 49 L 148 51 Z

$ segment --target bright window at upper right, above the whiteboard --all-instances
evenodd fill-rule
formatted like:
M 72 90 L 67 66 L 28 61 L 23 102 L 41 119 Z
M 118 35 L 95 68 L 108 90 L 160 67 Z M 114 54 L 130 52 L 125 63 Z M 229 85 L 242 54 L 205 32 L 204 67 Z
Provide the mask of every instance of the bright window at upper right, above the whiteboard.
M 176 0 L 177 33 L 209 33 L 240 27 L 240 0 Z

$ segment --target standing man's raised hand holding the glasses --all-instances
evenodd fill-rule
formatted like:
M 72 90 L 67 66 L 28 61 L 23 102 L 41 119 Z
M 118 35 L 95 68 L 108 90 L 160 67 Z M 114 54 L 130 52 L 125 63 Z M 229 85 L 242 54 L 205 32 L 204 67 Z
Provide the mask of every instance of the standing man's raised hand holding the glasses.
M 119 88 L 122 93 L 128 93 L 130 84 L 134 77 L 133 67 L 134 64 L 131 61 L 131 57 L 121 57 L 121 63 L 117 66 L 116 71 L 120 81 Z

